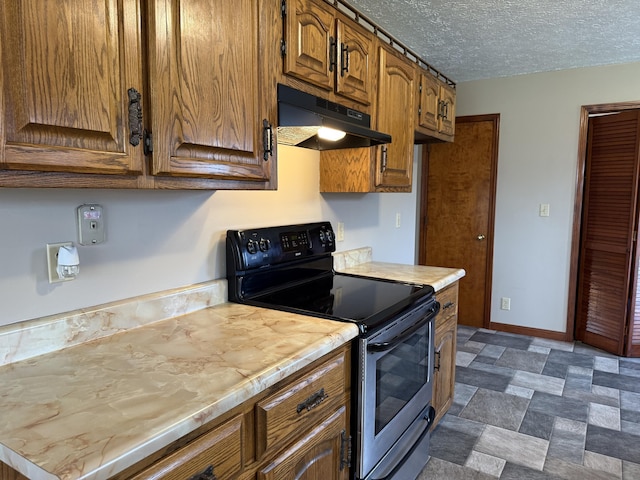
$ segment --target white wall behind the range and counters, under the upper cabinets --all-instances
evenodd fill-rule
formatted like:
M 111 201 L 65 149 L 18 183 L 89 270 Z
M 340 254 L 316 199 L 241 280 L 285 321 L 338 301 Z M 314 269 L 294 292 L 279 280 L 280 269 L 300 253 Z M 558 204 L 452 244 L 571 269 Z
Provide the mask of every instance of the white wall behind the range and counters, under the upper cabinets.
M 342 221 L 338 250 L 413 263 L 415 193 L 321 195 L 317 152 L 280 146 L 278 161 L 269 192 L 0 189 L 0 325 L 222 278 L 228 228 Z M 77 280 L 50 285 L 45 245 L 77 241 L 83 203 L 103 205 L 107 241 L 79 247 Z

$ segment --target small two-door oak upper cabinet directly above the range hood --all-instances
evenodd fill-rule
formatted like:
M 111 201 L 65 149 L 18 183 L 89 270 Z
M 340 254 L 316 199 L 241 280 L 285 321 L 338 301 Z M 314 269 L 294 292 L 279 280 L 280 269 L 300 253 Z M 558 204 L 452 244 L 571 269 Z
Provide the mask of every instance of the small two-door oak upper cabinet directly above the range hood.
M 371 103 L 373 34 L 319 0 L 286 0 L 284 73 Z

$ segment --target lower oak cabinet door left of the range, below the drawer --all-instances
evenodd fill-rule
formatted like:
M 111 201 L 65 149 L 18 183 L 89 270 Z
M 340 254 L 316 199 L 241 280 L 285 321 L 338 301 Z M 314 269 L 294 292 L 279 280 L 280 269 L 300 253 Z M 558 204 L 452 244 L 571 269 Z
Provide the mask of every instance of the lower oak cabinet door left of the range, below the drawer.
M 341 462 L 346 424 L 343 406 L 262 468 L 258 480 L 347 480 L 349 468 Z

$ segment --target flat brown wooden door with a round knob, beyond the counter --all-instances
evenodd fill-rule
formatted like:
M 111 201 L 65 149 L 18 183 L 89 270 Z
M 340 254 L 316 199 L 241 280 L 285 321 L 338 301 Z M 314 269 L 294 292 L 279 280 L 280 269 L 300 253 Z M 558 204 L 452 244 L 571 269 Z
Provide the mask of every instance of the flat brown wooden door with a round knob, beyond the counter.
M 423 158 L 420 263 L 466 270 L 458 319 L 474 327 L 489 326 L 499 120 L 458 117 L 455 141 Z

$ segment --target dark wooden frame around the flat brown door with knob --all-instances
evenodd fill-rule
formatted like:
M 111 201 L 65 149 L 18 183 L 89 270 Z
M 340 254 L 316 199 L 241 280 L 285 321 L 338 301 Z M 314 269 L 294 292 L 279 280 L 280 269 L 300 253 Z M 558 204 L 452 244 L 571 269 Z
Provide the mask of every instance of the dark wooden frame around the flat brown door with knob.
M 496 189 L 498 179 L 498 145 L 500 141 L 500 114 L 491 113 L 486 115 L 468 115 L 464 117 L 456 117 L 456 125 L 460 123 L 472 122 L 492 122 L 493 141 L 491 145 L 491 180 L 489 182 L 489 218 L 487 225 L 487 265 L 485 270 L 485 294 L 484 294 L 484 320 L 483 327 L 491 327 L 491 298 L 493 287 L 493 238 L 496 219 Z M 455 142 L 455 139 L 454 139 Z M 424 145 L 422 149 L 422 165 L 420 172 L 420 235 L 418 262 L 421 265 L 426 264 L 426 225 L 427 225 L 427 189 L 429 180 L 429 145 Z

